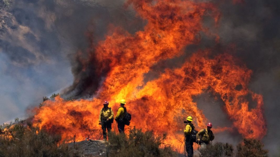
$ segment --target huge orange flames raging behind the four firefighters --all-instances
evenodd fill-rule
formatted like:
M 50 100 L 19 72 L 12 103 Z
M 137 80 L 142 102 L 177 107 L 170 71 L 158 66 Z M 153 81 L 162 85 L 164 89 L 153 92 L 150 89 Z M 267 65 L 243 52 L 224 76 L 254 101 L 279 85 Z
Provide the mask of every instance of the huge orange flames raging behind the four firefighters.
M 207 33 L 202 26 L 204 16 L 218 22 L 220 14 L 213 4 L 129 0 L 128 5 L 147 20 L 147 25 L 135 34 L 114 28 L 104 41 L 92 44 L 81 71 L 96 64 L 96 77 L 106 72 L 94 98 L 68 101 L 57 96 L 47 100 L 36 110 L 34 126 L 59 133 L 63 140 L 71 140 L 74 135 L 76 141 L 99 139 L 98 115 L 103 101 L 108 100 L 116 114 L 119 101 L 125 98 L 132 114 L 131 126 L 153 130 L 155 134 L 167 132 L 167 141 L 179 146 L 174 139 L 183 139 L 183 121 L 188 115 L 192 115 L 197 128 L 207 123 L 192 97 L 211 92 L 223 100 L 233 121 L 232 128 L 219 128 L 213 122 L 215 132 L 238 128 L 236 131 L 247 138 L 261 139 L 265 135 L 265 120 L 259 120 L 264 119 L 262 95 L 248 89 L 252 71 L 229 54 L 213 58 L 209 50 L 197 52 L 181 67 L 165 69 L 154 80 L 144 82 L 144 74 L 151 66 L 180 56 L 186 45 L 199 43 L 199 33 Z M 249 102 L 255 102 L 256 107 L 249 108 Z

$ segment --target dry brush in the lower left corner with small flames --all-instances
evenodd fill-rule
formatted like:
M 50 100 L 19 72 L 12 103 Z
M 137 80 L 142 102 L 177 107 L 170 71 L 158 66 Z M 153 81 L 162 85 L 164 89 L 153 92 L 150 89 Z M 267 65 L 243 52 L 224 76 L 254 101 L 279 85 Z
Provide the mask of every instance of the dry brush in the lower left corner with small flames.
M 67 145 L 58 146 L 60 136 L 39 131 L 31 125 L 18 123 L 12 126 L 5 133 L 9 136 L 0 136 L 0 157 L 70 156 Z

